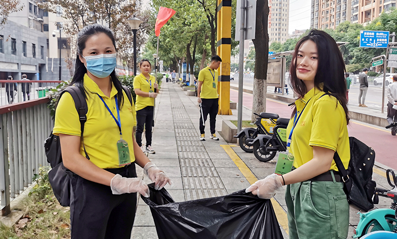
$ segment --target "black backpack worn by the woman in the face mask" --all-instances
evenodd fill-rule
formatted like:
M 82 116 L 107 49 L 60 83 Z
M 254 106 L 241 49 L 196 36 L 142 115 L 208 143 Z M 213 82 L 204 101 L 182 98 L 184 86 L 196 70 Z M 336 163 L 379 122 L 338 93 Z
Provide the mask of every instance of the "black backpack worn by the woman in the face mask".
M 123 86 L 123 90 L 126 92 L 131 105 L 133 105 L 131 91 L 126 86 Z M 84 147 L 83 132 L 84 123 L 85 121 L 87 121 L 87 102 L 81 91 L 75 86 L 70 86 L 63 90 L 59 95 L 58 100 L 65 92 L 69 92 L 74 100 L 78 117 L 80 119 L 81 140 Z M 75 174 L 69 169 L 65 168 L 62 162 L 61 144 L 59 142 L 59 136 L 54 135 L 51 132 L 50 137 L 45 140 L 44 150 L 45 155 L 47 156 L 47 162 L 51 165 L 52 168 L 50 172 L 48 172 L 48 178 L 50 180 L 52 191 L 54 192 L 54 195 L 59 203 L 64 207 L 68 207 L 70 206 L 71 201 L 72 179 Z M 89 160 L 90 157 L 88 156 L 85 147 L 84 153 L 85 157 Z

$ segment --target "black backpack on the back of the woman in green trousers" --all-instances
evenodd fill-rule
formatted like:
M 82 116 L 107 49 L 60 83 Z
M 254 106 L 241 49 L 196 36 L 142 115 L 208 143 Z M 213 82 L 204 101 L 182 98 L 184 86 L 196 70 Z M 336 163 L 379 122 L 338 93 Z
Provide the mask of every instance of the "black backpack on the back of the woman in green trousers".
M 334 161 L 344 182 L 344 190 L 349 204 L 362 211 L 368 211 L 373 209 L 374 204 L 379 201 L 375 195 L 376 182 L 372 180 L 375 151 L 354 137 L 349 137 L 349 141 L 350 162 L 348 169 L 343 167 L 337 152 L 335 152 Z

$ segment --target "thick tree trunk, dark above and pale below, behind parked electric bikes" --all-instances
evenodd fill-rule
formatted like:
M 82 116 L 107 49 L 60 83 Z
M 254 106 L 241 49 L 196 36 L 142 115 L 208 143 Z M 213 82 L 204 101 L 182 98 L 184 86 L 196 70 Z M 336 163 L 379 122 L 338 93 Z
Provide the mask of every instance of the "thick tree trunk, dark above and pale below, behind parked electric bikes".
M 269 53 L 269 34 L 267 31 L 267 20 L 269 6 L 267 0 L 256 3 L 256 35 L 253 40 L 255 46 L 255 67 L 253 76 L 253 113 L 266 112 L 266 76 L 267 60 Z M 251 122 L 255 121 L 252 115 Z

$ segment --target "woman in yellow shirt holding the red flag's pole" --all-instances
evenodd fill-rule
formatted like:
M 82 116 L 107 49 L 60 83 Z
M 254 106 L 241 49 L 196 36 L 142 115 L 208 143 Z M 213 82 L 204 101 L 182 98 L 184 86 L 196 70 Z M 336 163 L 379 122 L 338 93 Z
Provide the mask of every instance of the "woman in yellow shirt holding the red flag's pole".
M 153 127 L 154 98 L 159 93 L 156 78 L 150 75 L 151 64 L 144 59 L 139 63 L 141 74 L 134 78 L 134 91 L 137 94 L 135 109 L 137 111 L 136 139 L 142 151 L 156 153 L 151 147 L 151 128 Z M 154 92 L 156 91 L 156 92 Z M 142 133 L 145 128 L 146 147 L 142 145 Z

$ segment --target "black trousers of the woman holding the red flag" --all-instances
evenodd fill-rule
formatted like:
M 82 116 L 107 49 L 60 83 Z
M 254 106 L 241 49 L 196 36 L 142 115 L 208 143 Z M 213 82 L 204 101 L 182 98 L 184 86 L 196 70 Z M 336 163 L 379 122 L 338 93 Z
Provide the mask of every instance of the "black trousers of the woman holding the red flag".
M 153 106 L 146 106 L 137 111 L 137 133 L 135 138 L 139 147 L 142 146 L 142 133 L 145 128 L 146 147 L 151 145 L 151 127 L 153 126 Z

